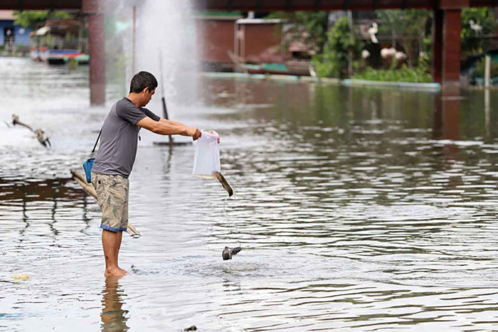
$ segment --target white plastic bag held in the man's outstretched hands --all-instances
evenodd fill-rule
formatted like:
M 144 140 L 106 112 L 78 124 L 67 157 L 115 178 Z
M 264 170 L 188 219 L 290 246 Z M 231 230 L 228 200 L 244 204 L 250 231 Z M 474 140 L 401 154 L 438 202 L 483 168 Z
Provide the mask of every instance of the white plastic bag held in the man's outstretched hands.
M 216 172 L 221 171 L 218 134 L 216 132 L 202 132 L 195 144 L 196 153 L 194 154 L 192 174 L 199 178 L 215 178 Z

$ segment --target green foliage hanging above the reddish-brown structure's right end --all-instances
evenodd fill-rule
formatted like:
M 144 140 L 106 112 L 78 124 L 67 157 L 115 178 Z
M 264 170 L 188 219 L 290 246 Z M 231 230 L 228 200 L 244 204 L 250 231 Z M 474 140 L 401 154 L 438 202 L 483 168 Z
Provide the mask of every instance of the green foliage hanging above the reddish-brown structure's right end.
M 294 24 L 292 31 L 292 41 L 302 39 L 302 28 L 307 33 L 304 43 L 309 48 L 317 48 L 319 52 L 322 50 L 327 38 L 327 25 L 329 22 L 329 13 L 327 11 L 295 11 L 284 12 L 277 11 L 268 15 L 266 18 L 280 18 Z

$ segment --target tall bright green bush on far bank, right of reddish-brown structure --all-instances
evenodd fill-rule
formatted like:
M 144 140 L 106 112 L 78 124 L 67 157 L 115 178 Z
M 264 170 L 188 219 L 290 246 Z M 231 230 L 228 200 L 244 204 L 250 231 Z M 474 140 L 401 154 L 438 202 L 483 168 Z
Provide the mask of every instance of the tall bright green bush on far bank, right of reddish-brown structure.
M 327 33 L 323 53 L 314 55 L 312 64 L 319 77 L 345 77 L 349 49 L 359 50 L 359 42 L 351 38 L 348 18 L 340 18 Z

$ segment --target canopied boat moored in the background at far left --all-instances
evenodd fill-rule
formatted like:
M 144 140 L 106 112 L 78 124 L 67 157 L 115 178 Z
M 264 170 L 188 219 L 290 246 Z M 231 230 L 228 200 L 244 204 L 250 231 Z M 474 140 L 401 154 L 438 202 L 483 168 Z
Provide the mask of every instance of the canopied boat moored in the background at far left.
M 78 21 L 48 21 L 38 30 L 31 32 L 30 56 L 33 60 L 49 65 L 64 65 L 69 61 L 86 65 L 90 61 L 90 55 L 86 53 L 87 41 L 80 35 Z

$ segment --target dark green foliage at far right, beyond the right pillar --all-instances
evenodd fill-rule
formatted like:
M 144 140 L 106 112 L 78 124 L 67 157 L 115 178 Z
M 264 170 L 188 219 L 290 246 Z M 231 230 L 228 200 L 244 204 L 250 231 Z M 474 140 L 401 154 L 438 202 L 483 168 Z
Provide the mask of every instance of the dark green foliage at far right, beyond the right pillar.
M 480 32 L 470 28 L 470 20 L 482 26 Z M 494 15 L 488 8 L 466 8 L 462 10 L 462 55 L 468 56 L 482 53 L 487 48 L 488 40 L 478 38 L 483 35 L 494 33 Z

